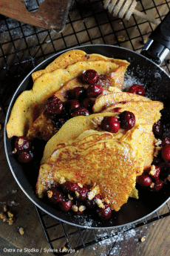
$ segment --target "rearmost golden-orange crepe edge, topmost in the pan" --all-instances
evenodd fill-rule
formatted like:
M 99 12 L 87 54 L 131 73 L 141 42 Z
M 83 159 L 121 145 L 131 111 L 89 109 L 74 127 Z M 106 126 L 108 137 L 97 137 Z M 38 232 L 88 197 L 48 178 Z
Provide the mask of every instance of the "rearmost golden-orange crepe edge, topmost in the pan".
M 125 73 L 126 68 L 129 65 L 129 62 L 121 59 L 107 58 L 101 54 L 87 54 L 83 50 L 69 50 L 66 53 L 61 54 L 56 58 L 50 65 L 47 66 L 44 70 L 38 70 L 32 73 L 33 82 L 35 79 L 43 75 L 44 73 L 51 73 L 57 69 L 67 68 L 69 65 L 75 64 L 76 62 L 95 62 L 95 61 L 104 61 L 104 62 L 114 62 L 119 65 L 121 71 Z

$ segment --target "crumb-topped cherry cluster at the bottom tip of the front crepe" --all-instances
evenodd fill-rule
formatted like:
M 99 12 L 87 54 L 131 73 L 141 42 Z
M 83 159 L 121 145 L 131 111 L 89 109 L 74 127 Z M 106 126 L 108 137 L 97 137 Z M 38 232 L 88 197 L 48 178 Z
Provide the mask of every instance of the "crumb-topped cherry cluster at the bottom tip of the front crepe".
M 101 200 L 101 195 L 95 194 L 95 197 L 93 197 L 92 200 L 89 200 L 89 191 L 90 189 L 88 186 L 80 187 L 77 183 L 67 181 L 50 188 L 50 190 L 47 191 L 47 195 L 52 203 L 58 203 L 58 206 L 62 211 L 69 211 L 73 208 L 72 206 L 77 206 L 78 209 L 75 211 L 75 214 L 80 215 L 84 212 L 80 211 L 80 206 L 86 206 L 89 209 L 95 209 L 101 220 L 109 219 L 112 214 L 110 206 L 107 203 L 103 203 L 103 208 L 98 207 L 96 200 Z

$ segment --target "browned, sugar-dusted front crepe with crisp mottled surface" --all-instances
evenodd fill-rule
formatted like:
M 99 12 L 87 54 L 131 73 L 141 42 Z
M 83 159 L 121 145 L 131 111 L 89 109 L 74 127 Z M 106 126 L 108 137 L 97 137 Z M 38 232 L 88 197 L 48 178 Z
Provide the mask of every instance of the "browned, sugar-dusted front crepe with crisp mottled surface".
M 136 149 L 131 146 L 134 143 Z M 41 165 L 36 185 L 38 197 L 64 177 L 82 185 L 95 183 L 111 209 L 118 211 L 135 187 L 137 174 L 143 171 L 141 151 L 137 138 L 129 143 L 115 140 L 108 132 L 81 134 L 76 140 L 56 146 L 50 160 Z

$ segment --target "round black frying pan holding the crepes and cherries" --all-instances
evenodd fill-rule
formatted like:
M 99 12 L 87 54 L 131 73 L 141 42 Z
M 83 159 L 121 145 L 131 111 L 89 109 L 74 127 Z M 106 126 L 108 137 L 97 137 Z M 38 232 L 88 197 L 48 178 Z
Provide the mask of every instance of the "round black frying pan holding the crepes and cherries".
M 169 18 L 169 17 L 168 17 Z M 166 19 L 165 19 L 166 20 Z M 161 28 L 161 27 L 160 27 Z M 159 31 L 160 33 L 160 31 Z M 159 36 L 158 38 L 162 38 Z M 158 41 L 159 41 L 158 39 Z M 166 42 L 166 40 L 165 40 Z M 155 41 L 154 41 L 155 43 Z M 158 42 L 156 42 L 157 44 Z M 166 46 L 164 42 L 160 42 L 159 45 Z M 169 46 L 166 46 L 169 48 Z M 103 56 L 114 57 L 116 59 L 126 59 L 131 63 L 126 72 L 125 85 L 128 87 L 134 83 L 143 85 L 146 89 L 146 96 L 151 99 L 160 100 L 164 103 L 165 110 L 163 111 L 163 123 L 164 133 L 169 134 L 170 125 L 170 78 L 167 73 L 156 65 L 154 62 L 149 60 L 147 57 L 142 56 L 132 50 L 127 50 L 121 47 L 112 45 L 85 45 L 76 47 L 77 49 L 84 50 L 86 53 L 100 53 Z M 152 56 L 152 59 L 157 59 L 157 53 L 155 53 L 155 47 L 152 45 L 154 53 L 150 53 L 149 50 L 145 51 L 145 54 Z M 152 51 L 153 52 L 153 51 Z M 32 88 L 33 81 L 31 73 L 36 70 L 44 69 L 50 64 L 57 56 L 64 51 L 55 54 L 49 59 L 42 62 L 38 67 L 34 68 L 27 77 L 18 86 L 16 93 L 13 95 L 13 99 L 10 102 L 10 106 L 7 111 L 7 117 L 5 125 L 10 116 L 10 111 L 13 108 L 13 104 L 18 95 L 25 90 Z M 159 61 L 159 59 L 157 59 Z M 124 226 L 129 223 L 134 223 L 137 220 L 143 220 L 144 217 L 149 216 L 157 209 L 165 204 L 170 197 L 170 183 L 163 186 L 163 189 L 157 193 L 150 192 L 146 188 L 139 188 L 139 200 L 129 199 L 128 203 L 123 205 L 120 211 L 112 211 L 112 217 L 109 220 L 101 221 L 98 220 L 91 212 L 89 214 L 82 214 L 75 216 L 72 212 L 66 213 L 60 211 L 57 207 L 50 204 L 49 201 L 39 199 L 35 194 L 35 182 L 38 175 L 37 166 L 33 165 L 22 165 L 16 160 L 13 151 L 13 140 L 14 138 L 8 139 L 6 131 L 4 131 L 4 147 L 7 155 L 7 161 L 10 165 L 10 169 L 16 182 L 21 187 L 22 191 L 30 198 L 43 211 L 55 217 L 58 220 L 64 221 L 75 226 L 88 227 L 92 229 L 99 228 L 113 228 L 118 226 Z

